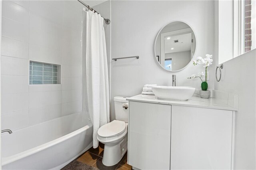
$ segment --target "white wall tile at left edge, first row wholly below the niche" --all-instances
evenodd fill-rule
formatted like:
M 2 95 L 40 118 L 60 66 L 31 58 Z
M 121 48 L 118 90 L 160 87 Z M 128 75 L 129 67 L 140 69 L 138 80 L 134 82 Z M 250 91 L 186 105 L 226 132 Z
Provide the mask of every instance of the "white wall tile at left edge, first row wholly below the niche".
M 28 93 L 2 95 L 1 99 L 3 113 L 10 113 L 28 109 Z

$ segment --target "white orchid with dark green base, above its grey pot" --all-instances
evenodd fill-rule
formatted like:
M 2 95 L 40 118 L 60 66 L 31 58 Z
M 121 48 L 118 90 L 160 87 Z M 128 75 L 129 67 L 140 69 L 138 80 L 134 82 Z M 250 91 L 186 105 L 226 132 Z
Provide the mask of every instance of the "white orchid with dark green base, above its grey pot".
M 205 75 L 205 81 L 202 81 L 201 83 L 201 88 L 203 91 L 206 91 L 208 89 L 208 84 L 207 84 L 207 67 L 209 67 L 210 65 L 212 65 L 212 55 L 210 54 L 206 54 L 205 58 L 202 57 L 197 57 L 196 60 L 193 61 L 194 65 L 198 65 L 198 64 L 203 64 L 203 67 L 205 67 L 205 74 L 204 72 L 199 72 L 198 76 L 196 76 L 195 74 L 192 74 L 191 77 L 188 77 L 188 79 L 194 79 L 194 78 L 202 78 L 203 75 Z

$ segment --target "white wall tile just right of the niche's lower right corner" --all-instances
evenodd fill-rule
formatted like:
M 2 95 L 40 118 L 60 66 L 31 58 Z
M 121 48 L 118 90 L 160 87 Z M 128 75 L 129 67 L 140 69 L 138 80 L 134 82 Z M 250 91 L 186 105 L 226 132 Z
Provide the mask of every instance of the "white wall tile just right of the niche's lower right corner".
M 82 89 L 81 78 L 62 78 L 62 90 Z

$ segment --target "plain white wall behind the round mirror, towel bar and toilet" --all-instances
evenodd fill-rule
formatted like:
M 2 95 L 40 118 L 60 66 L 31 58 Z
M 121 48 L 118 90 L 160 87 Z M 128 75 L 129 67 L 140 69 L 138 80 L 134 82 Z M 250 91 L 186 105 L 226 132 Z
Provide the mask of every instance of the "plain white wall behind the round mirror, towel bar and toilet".
M 196 34 L 195 57 L 214 53 L 214 1 L 112 1 L 111 57 L 139 55 L 140 59 L 111 61 L 111 120 L 114 116 L 114 96 L 133 96 L 141 93 L 148 83 L 172 85 L 172 74 L 178 86 L 200 88 L 199 79 L 187 79 L 204 71 L 192 63 L 179 72 L 169 72 L 158 65 L 154 57 L 154 42 L 159 30 L 174 20 L 190 24 Z M 215 57 L 213 58 L 215 59 Z M 214 67 L 209 71 L 213 74 Z M 213 88 L 214 77 L 208 81 Z

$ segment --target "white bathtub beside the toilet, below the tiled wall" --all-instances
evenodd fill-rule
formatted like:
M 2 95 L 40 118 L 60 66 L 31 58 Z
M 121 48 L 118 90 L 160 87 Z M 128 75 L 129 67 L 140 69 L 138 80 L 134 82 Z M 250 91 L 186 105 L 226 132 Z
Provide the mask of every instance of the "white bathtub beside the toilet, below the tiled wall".
M 76 113 L 2 134 L 2 169 L 59 170 L 92 146 L 92 130 Z

